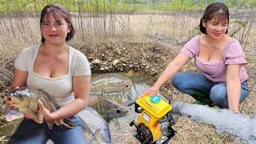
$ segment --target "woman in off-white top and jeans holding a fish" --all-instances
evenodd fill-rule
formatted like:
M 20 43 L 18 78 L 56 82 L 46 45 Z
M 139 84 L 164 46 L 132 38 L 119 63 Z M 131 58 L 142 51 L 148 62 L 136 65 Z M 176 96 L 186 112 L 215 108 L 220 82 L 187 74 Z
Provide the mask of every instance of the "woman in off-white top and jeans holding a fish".
M 14 64 L 11 90 L 27 86 L 43 90 L 53 98 L 60 108 L 52 113 L 38 101 L 39 112 L 44 121 L 70 118 L 76 123 L 72 129 L 54 126 L 48 129 L 45 122 L 34 122 L 30 114 L 10 138 L 10 143 L 86 143 L 78 118 L 78 111 L 86 108 L 90 94 L 90 66 L 80 51 L 66 44 L 74 37 L 74 26 L 70 14 L 63 7 L 50 4 L 42 10 L 40 18 L 42 43 L 22 50 Z

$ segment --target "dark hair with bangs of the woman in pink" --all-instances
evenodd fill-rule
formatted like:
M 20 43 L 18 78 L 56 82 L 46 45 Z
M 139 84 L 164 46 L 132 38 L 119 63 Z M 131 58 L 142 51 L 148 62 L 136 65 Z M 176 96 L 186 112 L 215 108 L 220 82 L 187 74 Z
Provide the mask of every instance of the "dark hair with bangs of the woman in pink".
M 200 31 L 202 34 L 206 34 L 206 28 L 202 26 L 202 21 L 205 22 L 209 21 L 211 18 L 217 18 L 218 22 L 227 21 L 227 23 L 230 23 L 230 13 L 229 9 L 224 3 L 216 2 L 212 3 L 209 6 L 206 7 L 206 10 L 204 11 L 202 18 L 200 20 Z M 226 30 L 226 34 L 227 34 Z

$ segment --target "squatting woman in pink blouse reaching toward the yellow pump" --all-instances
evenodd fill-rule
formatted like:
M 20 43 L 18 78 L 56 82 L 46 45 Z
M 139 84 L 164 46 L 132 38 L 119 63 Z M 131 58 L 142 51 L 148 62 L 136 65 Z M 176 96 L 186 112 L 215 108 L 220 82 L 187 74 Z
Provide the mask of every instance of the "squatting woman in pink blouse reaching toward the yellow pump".
M 206 7 L 200 20 L 202 35 L 192 38 L 166 67 L 154 86 L 144 94 L 157 94 L 164 82 L 173 85 L 196 100 L 210 99 L 220 108 L 238 112 L 238 105 L 248 95 L 245 54 L 241 44 L 228 34 L 229 10 L 221 2 Z M 200 73 L 178 72 L 190 58 Z

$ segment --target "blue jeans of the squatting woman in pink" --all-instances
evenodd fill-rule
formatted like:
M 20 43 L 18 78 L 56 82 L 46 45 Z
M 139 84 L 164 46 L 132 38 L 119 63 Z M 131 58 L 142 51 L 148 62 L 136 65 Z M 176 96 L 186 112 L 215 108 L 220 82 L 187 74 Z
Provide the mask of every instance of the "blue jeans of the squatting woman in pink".
M 174 87 L 183 93 L 193 96 L 196 92 L 205 94 L 220 108 L 228 108 L 226 82 L 212 82 L 201 73 L 182 72 L 172 78 Z M 240 103 L 248 96 L 247 81 L 241 83 Z

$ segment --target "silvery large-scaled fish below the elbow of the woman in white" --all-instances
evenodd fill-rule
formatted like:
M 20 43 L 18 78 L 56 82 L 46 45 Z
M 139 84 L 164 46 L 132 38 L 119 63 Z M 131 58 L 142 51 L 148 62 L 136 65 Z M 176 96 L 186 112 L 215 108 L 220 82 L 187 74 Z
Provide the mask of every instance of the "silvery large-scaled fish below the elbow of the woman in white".
M 108 123 L 100 114 L 91 107 L 86 107 L 80 111 L 78 118 L 82 122 L 82 127 L 86 132 L 86 141 L 88 143 L 111 143 L 111 134 Z

